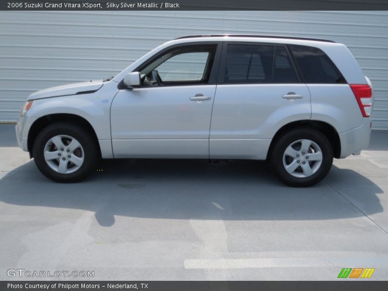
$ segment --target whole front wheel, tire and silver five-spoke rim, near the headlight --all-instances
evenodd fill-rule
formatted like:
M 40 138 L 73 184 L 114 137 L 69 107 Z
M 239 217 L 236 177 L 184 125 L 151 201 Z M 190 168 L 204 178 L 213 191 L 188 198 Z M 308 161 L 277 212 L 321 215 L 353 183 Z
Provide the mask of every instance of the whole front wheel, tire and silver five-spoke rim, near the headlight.
M 76 182 L 97 165 L 98 147 L 90 132 L 71 123 L 55 123 L 44 128 L 33 145 L 36 166 L 56 182 Z

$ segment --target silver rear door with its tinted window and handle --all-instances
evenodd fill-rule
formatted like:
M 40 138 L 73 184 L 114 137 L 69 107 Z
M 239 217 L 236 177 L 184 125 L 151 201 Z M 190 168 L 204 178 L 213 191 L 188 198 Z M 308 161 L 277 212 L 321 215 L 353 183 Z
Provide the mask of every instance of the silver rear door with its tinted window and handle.
M 265 159 L 278 129 L 310 116 L 310 93 L 285 45 L 224 44 L 210 158 Z

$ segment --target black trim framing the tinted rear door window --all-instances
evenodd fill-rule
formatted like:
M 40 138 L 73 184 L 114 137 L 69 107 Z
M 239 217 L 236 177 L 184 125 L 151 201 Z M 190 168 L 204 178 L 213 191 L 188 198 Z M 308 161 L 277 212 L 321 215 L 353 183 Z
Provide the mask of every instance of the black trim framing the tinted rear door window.
M 286 49 L 286 53 L 290 59 L 291 67 L 294 70 L 297 82 L 292 83 L 276 83 L 276 82 L 225 82 L 225 73 L 226 73 L 226 55 L 227 55 L 227 46 L 228 45 L 248 45 L 248 46 L 262 46 L 262 47 L 274 47 L 274 55 L 273 55 L 273 62 L 272 62 L 272 75 L 274 75 L 274 65 L 275 65 L 275 56 L 276 56 L 276 47 L 283 47 Z M 273 76 L 271 76 L 271 79 L 273 80 Z M 221 55 L 221 62 L 220 62 L 220 68 L 218 71 L 218 85 L 252 85 L 252 84 L 300 84 L 303 83 L 303 81 L 300 78 L 299 72 L 295 67 L 295 64 L 293 62 L 293 59 L 291 58 L 291 54 L 289 49 L 287 48 L 287 44 L 277 44 L 277 43 L 263 43 L 263 42 L 241 42 L 241 41 L 225 41 L 222 46 L 222 55 Z

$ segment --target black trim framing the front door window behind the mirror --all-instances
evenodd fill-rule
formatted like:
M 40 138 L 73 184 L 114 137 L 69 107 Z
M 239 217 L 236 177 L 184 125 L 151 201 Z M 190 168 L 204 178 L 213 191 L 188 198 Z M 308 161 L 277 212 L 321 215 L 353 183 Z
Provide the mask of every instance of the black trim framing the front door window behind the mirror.
M 219 65 L 220 65 L 220 59 L 221 59 L 221 52 L 222 52 L 222 42 L 220 42 L 220 41 L 190 42 L 190 43 L 183 43 L 183 44 L 172 45 L 170 47 L 162 49 L 158 53 L 156 53 L 153 56 L 151 56 L 149 59 L 147 59 L 141 65 L 138 65 L 134 70 L 132 70 L 132 72 L 140 72 L 147 65 L 150 65 L 155 60 L 160 58 L 162 55 L 168 53 L 169 51 L 173 51 L 173 50 L 177 50 L 177 49 L 189 49 L 189 48 L 192 48 L 192 47 L 214 46 L 214 45 L 215 45 L 214 60 L 213 60 L 213 65 L 212 65 L 211 70 L 210 70 L 210 75 L 209 75 L 209 81 L 208 82 L 206 82 L 206 83 L 192 83 L 192 84 L 165 84 L 163 86 L 159 86 L 159 88 L 163 88 L 163 87 L 177 87 L 177 86 L 216 85 L 217 84 L 218 70 L 219 70 Z M 143 86 L 141 86 L 139 88 L 158 88 L 158 86 L 155 86 L 155 87 L 147 87 L 147 86 L 143 87 Z

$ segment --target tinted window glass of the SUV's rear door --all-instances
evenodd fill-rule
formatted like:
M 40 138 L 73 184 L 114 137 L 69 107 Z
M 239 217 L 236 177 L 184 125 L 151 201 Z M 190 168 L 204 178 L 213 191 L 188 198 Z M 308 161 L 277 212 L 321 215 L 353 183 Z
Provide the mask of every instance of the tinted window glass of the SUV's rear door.
M 228 45 L 224 83 L 298 83 L 287 50 L 280 46 Z

